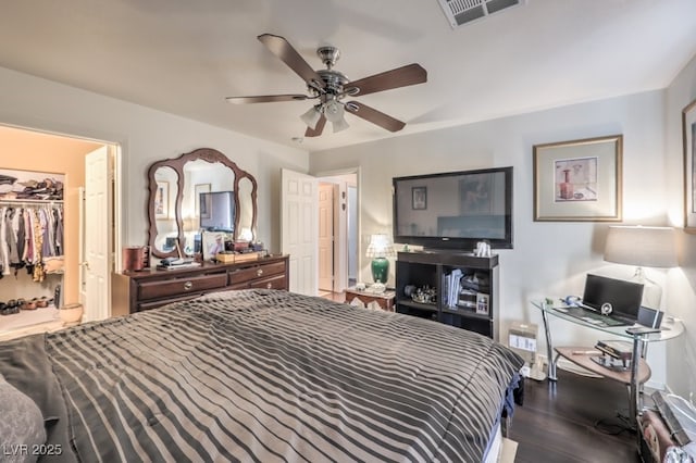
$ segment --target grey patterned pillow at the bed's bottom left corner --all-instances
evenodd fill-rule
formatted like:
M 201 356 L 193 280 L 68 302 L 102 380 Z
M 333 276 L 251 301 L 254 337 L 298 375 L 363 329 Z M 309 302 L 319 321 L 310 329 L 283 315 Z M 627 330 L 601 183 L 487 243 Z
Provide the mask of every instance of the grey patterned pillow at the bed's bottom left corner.
M 46 442 L 41 411 L 0 375 L 0 449 L 3 462 L 35 462 Z

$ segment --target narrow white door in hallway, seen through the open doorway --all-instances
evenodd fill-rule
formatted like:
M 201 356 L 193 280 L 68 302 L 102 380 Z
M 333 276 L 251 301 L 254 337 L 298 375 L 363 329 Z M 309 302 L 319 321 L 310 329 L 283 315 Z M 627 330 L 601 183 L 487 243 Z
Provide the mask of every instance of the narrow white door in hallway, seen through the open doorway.
M 319 289 L 334 290 L 334 185 L 319 184 Z

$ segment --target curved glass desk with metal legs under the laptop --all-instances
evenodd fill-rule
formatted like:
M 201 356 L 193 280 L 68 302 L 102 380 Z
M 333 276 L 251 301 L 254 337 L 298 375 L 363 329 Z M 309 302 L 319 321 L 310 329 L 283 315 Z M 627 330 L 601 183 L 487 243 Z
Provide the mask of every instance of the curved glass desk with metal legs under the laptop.
M 684 333 L 684 325 L 682 324 L 681 321 L 669 318 L 669 320 L 662 321 L 659 331 L 657 333 L 632 334 L 627 331 L 631 328 L 631 326 L 602 326 L 596 323 L 591 323 L 582 318 L 576 318 L 564 312 L 566 305 L 562 302 L 560 302 L 559 298 L 554 299 L 554 301 L 555 302 L 552 304 L 547 304 L 545 301 L 539 301 L 539 300 L 532 301 L 532 305 L 534 305 L 535 308 L 542 311 L 542 318 L 544 321 L 544 333 L 546 335 L 546 352 L 548 356 L 547 373 L 548 373 L 549 380 L 552 380 L 552 381 L 557 380 L 556 363 L 558 361 L 558 355 L 554 358 L 554 343 L 551 341 L 551 330 L 549 328 L 549 315 L 555 316 L 557 318 L 564 320 L 570 323 L 574 323 L 580 326 L 584 326 L 586 328 L 607 333 L 609 335 L 617 336 L 619 338 L 624 338 L 625 340 L 632 341 L 633 342 L 632 360 L 638 360 L 638 361 L 631 362 L 630 379 L 629 379 L 629 392 L 631 396 L 630 403 L 629 403 L 629 414 L 630 414 L 629 418 L 631 420 L 631 423 L 635 425 L 637 423 L 636 420 L 637 420 L 638 412 L 642 410 L 641 403 L 639 403 L 641 381 L 638 377 L 638 366 L 641 365 L 641 361 L 645 359 L 647 345 L 650 342 L 660 342 L 669 339 L 674 339 L 681 336 L 682 333 Z M 634 325 L 634 326 L 641 326 L 641 325 Z M 559 352 L 559 354 L 572 361 L 570 356 L 560 353 L 558 349 L 557 349 L 557 352 Z M 597 365 L 597 367 L 592 368 L 592 371 L 594 373 L 602 375 L 601 368 L 604 367 L 600 365 Z M 602 375 L 602 376 L 606 376 L 606 375 Z

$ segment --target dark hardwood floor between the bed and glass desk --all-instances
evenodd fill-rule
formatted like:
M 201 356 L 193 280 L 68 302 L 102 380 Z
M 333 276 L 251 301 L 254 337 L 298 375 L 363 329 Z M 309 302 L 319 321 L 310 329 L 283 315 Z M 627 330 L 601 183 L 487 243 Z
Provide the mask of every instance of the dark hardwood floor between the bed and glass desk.
M 508 433 L 518 442 L 514 461 L 641 462 L 636 435 L 620 430 L 617 414 L 626 416 L 627 409 L 619 383 L 560 370 L 556 384 L 526 379 L 524 404 L 515 408 Z

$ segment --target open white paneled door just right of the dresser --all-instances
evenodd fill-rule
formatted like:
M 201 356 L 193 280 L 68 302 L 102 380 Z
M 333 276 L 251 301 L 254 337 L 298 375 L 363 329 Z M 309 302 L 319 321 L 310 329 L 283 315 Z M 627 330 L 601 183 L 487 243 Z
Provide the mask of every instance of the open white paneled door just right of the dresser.
M 318 186 L 316 178 L 281 171 L 281 250 L 290 256 L 290 291 L 318 295 Z

